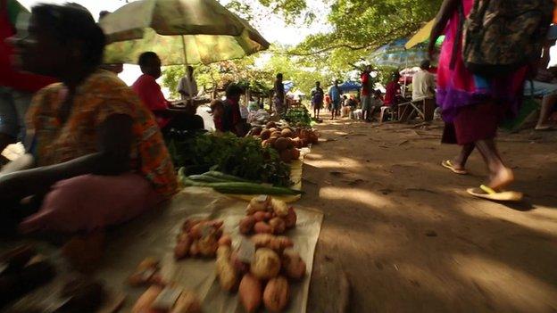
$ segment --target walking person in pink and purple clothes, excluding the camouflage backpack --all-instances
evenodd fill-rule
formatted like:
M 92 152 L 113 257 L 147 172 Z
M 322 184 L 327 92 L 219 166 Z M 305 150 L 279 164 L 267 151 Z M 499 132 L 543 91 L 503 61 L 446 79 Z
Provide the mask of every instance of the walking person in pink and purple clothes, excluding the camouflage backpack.
M 547 4 L 553 6 L 551 2 Z M 514 173 L 504 164 L 495 146 L 495 134 L 503 116 L 518 110 L 528 66 L 504 75 L 496 73 L 493 77 L 473 74 L 467 69 L 462 59 L 461 20 L 462 16 L 468 16 L 473 5 L 473 0 L 445 0 L 436 16 L 430 36 L 429 53 L 434 54 L 436 39 L 446 29 L 437 70 L 436 102 L 441 107 L 445 119 L 443 142 L 461 145 L 461 153 L 451 160 L 443 161 L 442 165 L 455 173 L 466 174 L 466 161 L 470 153 L 478 148 L 489 170 L 489 178 L 485 185 L 470 188 L 468 192 L 485 198 L 519 200 L 520 194 L 503 193 L 504 188 L 514 181 Z M 495 7 L 490 9 L 499 10 Z M 463 12 L 459 12 L 460 10 Z M 541 29 L 549 26 L 553 9 L 541 12 L 547 14 L 548 21 L 541 21 L 529 30 L 539 28 L 541 32 Z M 500 29 L 495 31 L 496 36 L 504 35 L 498 31 Z M 494 35 L 494 32 L 489 34 Z M 495 39 L 498 38 L 492 37 L 490 42 L 495 43 Z M 531 45 L 536 43 L 532 42 Z M 498 55 L 506 57 L 505 54 Z M 526 59 L 526 55 L 524 57 Z

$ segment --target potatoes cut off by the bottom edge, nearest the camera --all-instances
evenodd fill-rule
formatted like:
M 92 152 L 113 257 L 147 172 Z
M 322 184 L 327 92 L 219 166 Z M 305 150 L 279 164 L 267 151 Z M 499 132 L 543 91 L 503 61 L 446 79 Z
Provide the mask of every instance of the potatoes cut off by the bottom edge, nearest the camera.
M 177 285 L 152 285 L 137 299 L 132 313 L 197 313 L 201 302 L 195 292 Z

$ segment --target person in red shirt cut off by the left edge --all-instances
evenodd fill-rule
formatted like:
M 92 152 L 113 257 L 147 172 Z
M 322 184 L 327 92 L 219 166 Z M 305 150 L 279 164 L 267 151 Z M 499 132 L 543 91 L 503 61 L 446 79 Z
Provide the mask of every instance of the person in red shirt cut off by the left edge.
M 44 86 L 54 83 L 54 78 L 16 70 L 12 64 L 13 46 L 7 40 L 16 34 L 15 21 L 23 6 L 15 0 L 0 0 L 0 152 L 8 144 L 24 142 L 25 113 L 32 96 Z M 0 159 L 2 157 L 0 156 Z M 0 160 L 2 165 L 5 160 Z

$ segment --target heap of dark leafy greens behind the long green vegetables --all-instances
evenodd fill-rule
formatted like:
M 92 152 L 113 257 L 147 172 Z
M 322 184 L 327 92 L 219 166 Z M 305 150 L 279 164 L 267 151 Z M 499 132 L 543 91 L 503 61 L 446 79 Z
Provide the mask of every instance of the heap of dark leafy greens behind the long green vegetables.
M 261 141 L 232 134 L 198 134 L 174 137 L 167 142 L 174 166 L 187 175 L 217 170 L 256 183 L 289 186 L 290 168 L 278 152 Z

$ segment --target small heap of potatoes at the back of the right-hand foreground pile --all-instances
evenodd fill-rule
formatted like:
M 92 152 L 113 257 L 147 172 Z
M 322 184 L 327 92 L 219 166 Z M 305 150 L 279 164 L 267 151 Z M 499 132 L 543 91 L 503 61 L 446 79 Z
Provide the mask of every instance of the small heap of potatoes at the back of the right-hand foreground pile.
M 240 233 L 283 234 L 295 227 L 296 214 L 293 207 L 268 195 L 255 197 L 247 205 L 247 216 L 240 221 Z

